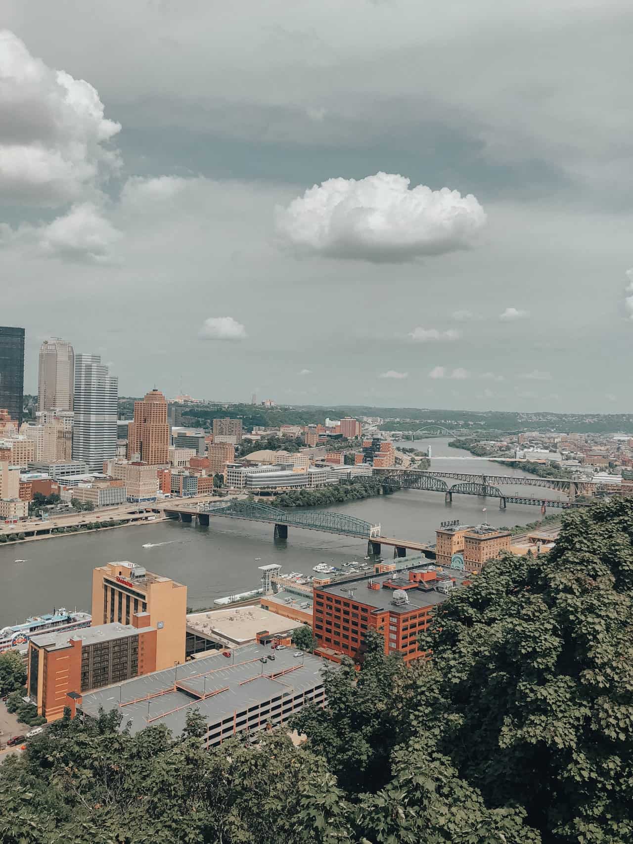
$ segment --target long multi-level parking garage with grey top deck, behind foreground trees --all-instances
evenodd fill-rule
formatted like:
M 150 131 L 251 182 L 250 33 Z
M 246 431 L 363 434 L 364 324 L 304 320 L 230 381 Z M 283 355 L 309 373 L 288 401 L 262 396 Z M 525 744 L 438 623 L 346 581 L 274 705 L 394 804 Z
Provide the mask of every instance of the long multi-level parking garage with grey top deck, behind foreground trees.
M 74 706 L 95 718 L 101 707 L 121 711 L 123 723 L 131 721 L 133 734 L 151 719 L 174 737 L 181 735 L 187 711 L 197 710 L 207 723 L 202 737 L 206 747 L 237 733 L 277 727 L 303 706 L 325 706 L 322 660 L 311 653 L 294 657 L 292 648 L 273 652 L 270 642 L 259 638 L 262 643 L 233 648 L 230 659 L 211 651 L 177 668 L 77 695 Z M 274 662 L 260 661 L 271 653 Z

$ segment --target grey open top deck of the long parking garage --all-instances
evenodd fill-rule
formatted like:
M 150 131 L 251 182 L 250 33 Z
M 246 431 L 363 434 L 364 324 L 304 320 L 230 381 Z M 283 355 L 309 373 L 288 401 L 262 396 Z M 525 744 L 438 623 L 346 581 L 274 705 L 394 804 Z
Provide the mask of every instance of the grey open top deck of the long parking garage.
M 260 657 L 271 653 L 274 662 L 260 662 Z M 197 709 L 208 724 L 215 724 L 278 695 L 295 695 L 321 685 L 322 659 L 311 653 L 295 657 L 294 653 L 294 648 L 273 652 L 257 644 L 235 648 L 230 658 L 215 651 L 177 668 L 89 692 L 82 709 L 94 717 L 100 706 L 106 712 L 120 711 L 121 729 L 131 722 L 131 733 L 148 724 L 165 724 L 178 736 L 187 711 Z

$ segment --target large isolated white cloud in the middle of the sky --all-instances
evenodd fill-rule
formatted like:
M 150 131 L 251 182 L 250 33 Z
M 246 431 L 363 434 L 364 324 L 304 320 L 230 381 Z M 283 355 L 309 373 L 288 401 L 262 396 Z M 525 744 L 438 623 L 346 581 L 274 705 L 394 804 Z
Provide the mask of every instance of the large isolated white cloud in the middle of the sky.
M 472 194 L 442 187 L 409 190 L 404 176 L 328 179 L 276 209 L 281 242 L 295 252 L 403 262 L 473 245 L 484 209 Z

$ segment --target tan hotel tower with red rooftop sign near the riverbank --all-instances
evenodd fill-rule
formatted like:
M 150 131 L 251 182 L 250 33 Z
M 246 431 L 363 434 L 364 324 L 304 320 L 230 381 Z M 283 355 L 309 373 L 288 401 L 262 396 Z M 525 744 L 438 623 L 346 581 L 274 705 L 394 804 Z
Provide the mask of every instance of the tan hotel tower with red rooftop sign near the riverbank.
M 142 565 L 107 563 L 93 571 L 92 621 L 129 625 L 147 613 L 156 634 L 156 670 L 185 661 L 187 587 Z

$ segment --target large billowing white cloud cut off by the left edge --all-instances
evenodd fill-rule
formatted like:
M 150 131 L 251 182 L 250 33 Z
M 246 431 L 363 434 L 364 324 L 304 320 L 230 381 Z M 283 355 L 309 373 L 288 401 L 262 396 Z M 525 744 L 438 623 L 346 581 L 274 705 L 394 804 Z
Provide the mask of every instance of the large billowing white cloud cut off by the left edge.
M 121 126 L 96 90 L 47 68 L 13 32 L 0 30 L 0 192 L 3 201 L 55 207 L 89 195 L 116 152 Z

